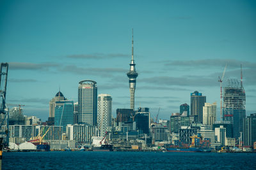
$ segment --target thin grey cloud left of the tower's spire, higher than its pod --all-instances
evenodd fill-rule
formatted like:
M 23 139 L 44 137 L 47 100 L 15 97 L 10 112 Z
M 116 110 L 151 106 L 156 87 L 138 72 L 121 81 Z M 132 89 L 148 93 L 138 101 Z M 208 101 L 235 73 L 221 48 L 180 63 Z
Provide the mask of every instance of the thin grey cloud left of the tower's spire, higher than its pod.
M 93 54 L 73 54 L 67 55 L 70 59 L 112 59 L 112 58 L 125 58 L 129 55 L 124 53 L 93 53 Z

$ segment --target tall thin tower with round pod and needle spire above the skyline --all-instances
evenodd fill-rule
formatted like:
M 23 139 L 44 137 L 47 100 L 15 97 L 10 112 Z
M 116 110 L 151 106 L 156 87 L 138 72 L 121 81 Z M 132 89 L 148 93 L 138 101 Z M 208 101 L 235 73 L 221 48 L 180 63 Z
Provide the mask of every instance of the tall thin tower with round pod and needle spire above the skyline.
M 127 76 L 129 78 L 129 88 L 130 88 L 130 108 L 134 110 L 134 93 L 136 89 L 136 78 L 138 76 L 138 73 L 135 69 L 135 63 L 133 59 L 133 29 L 132 29 L 132 60 L 130 64 L 130 71 L 127 73 Z

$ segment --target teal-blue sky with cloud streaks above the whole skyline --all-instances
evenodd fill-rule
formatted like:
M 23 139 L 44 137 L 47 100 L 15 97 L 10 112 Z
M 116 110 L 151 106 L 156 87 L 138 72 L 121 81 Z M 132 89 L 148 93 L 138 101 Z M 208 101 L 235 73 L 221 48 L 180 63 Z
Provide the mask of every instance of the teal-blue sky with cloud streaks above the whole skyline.
M 255 1 L 0 1 L 0 61 L 8 62 L 8 106 L 46 120 L 60 87 L 77 101 L 81 80 L 129 108 L 126 73 L 139 73 L 135 108 L 169 119 L 190 93 L 218 103 L 218 76 L 240 77 L 246 114 L 256 113 Z M 219 113 L 218 113 L 219 115 Z

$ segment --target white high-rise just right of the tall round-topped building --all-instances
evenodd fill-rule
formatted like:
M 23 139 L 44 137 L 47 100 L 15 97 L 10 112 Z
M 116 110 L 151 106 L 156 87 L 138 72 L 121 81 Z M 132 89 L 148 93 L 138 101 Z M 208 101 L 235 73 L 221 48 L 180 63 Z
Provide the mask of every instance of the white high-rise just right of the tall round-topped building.
M 98 111 L 97 111 L 97 127 L 100 136 L 104 136 L 107 127 L 111 126 L 112 118 L 112 97 L 109 94 L 99 94 Z

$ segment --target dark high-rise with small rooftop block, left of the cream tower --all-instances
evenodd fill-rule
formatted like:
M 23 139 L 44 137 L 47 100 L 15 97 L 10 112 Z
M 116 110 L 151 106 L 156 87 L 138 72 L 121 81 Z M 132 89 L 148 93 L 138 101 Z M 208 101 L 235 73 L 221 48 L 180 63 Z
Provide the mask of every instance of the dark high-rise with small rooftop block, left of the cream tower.
M 195 91 L 191 93 L 191 104 L 190 104 L 190 114 L 195 117 L 195 122 L 203 122 L 203 107 L 206 103 L 206 96 L 202 96 L 202 93 Z

